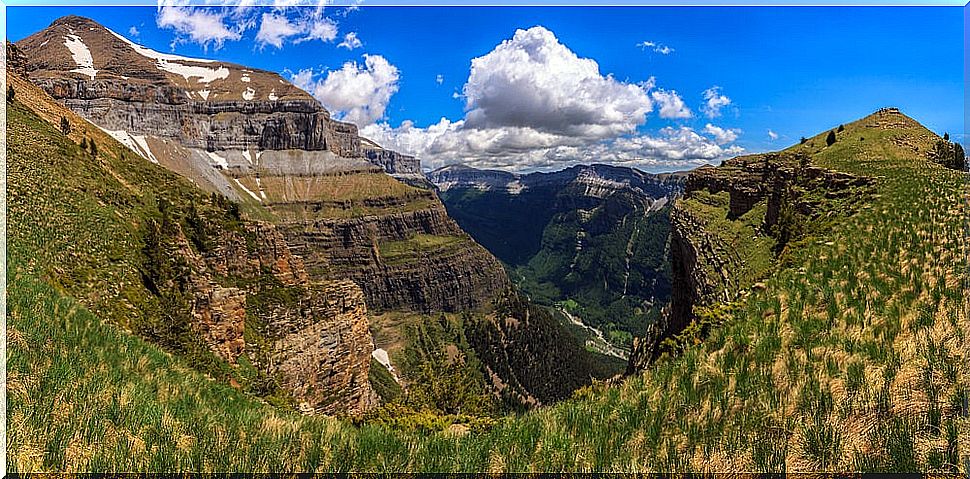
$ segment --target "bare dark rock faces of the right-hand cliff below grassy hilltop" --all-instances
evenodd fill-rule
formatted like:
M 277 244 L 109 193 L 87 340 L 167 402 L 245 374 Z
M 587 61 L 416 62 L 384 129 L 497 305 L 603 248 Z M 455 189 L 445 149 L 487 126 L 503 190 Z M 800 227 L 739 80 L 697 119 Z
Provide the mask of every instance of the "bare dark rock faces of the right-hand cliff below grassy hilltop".
M 777 236 L 782 208 L 812 219 L 830 200 L 861 198 L 874 180 L 813 166 L 807 156 L 767 153 L 726 160 L 718 167 L 702 167 L 690 173 L 685 198 L 705 190 L 727 192 L 725 211 L 736 220 L 764 203 L 760 225 L 764 235 Z M 670 215 L 670 261 L 672 295 L 661 320 L 634 348 L 630 370 L 642 369 L 661 352 L 661 342 L 684 330 L 696 319 L 695 308 L 728 303 L 751 287 L 741 272 L 745 260 L 734 252 L 731 238 L 708 227 L 684 202 L 678 201 Z M 765 252 L 770 254 L 770 252 Z

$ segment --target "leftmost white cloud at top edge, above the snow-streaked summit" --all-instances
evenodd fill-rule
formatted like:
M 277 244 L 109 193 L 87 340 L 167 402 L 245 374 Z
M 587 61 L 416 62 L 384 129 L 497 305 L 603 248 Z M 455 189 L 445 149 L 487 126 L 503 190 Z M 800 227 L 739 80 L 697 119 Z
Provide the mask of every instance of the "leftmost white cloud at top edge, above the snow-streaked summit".
M 208 48 L 222 48 L 226 40 L 242 38 L 244 26 L 227 25 L 229 10 L 224 8 L 189 7 L 187 2 L 159 0 L 155 22 L 159 28 L 175 31 L 172 45 L 191 41 Z

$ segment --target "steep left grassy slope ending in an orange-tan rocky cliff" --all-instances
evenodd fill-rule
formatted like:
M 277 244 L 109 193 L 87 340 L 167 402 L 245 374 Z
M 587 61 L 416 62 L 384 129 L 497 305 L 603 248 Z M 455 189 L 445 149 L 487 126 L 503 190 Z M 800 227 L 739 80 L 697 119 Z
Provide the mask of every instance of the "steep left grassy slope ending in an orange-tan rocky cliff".
M 245 375 L 232 372 L 243 357 L 306 412 L 359 414 L 375 403 L 358 286 L 312 278 L 274 225 L 245 221 L 222 197 L 131 161 L 22 77 L 8 82 L 17 92 L 8 207 L 20 225 L 10 244 L 35 258 L 29 273 L 173 352 L 191 353 L 198 340 L 247 390 Z M 82 138 L 100 145 L 96 155 L 78 147 Z

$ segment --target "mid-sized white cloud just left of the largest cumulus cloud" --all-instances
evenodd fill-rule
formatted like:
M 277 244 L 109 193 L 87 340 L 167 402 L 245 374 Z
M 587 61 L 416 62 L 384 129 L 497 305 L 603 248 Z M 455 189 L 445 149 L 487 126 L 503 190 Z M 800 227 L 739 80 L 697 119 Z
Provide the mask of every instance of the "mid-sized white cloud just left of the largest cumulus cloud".
M 398 90 L 397 67 L 380 55 L 364 55 L 364 64 L 344 63 L 340 70 L 316 79 L 312 69 L 291 75 L 293 83 L 308 91 L 336 118 L 358 126 L 384 117 L 391 96 Z

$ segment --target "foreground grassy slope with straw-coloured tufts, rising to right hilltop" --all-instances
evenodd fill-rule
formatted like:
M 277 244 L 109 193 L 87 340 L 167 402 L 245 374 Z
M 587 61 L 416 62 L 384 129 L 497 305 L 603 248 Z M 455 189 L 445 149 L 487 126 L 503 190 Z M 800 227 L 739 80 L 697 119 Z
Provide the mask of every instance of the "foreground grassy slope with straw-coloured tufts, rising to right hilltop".
M 856 128 L 844 136 L 865 142 L 816 161 L 884 176 L 879 196 L 806 242 L 704 344 L 483 434 L 280 412 L 13 274 L 10 467 L 967 472 L 967 180 Z

